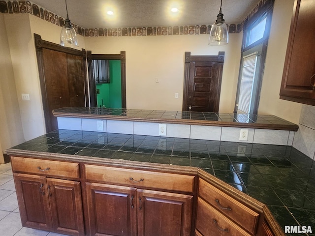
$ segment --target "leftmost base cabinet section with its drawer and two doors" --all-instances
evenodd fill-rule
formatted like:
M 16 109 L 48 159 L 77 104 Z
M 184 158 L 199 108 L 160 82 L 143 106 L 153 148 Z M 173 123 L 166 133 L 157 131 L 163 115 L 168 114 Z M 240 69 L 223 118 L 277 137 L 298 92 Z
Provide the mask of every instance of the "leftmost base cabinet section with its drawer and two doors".
M 11 157 L 22 225 L 84 236 L 78 164 Z

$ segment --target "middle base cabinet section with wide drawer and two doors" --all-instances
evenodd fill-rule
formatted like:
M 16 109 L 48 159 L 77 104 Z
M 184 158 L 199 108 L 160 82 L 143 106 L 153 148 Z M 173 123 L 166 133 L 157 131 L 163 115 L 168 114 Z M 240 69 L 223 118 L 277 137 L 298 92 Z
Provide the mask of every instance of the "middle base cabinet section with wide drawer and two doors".
M 86 183 L 92 236 L 190 236 L 193 176 L 95 165 L 85 169 L 86 178 L 95 181 Z

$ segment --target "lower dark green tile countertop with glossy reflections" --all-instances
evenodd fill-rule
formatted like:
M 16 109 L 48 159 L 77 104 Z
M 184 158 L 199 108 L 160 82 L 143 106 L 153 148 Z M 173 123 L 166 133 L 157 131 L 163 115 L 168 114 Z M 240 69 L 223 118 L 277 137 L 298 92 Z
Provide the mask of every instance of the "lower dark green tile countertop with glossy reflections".
M 12 149 L 200 167 L 315 235 L 315 161 L 289 146 L 57 130 Z

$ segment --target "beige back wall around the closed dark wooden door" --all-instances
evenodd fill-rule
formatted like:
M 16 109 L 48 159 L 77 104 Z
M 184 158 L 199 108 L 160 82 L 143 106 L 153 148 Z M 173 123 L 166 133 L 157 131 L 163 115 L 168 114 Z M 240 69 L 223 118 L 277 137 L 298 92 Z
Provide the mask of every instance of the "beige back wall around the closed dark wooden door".
M 220 112 L 233 112 L 241 37 L 231 34 L 230 43 L 220 47 L 208 46 L 208 35 L 87 37 L 85 44 L 95 54 L 126 51 L 126 100 L 131 109 L 181 111 L 185 52 L 218 55 L 224 51 Z

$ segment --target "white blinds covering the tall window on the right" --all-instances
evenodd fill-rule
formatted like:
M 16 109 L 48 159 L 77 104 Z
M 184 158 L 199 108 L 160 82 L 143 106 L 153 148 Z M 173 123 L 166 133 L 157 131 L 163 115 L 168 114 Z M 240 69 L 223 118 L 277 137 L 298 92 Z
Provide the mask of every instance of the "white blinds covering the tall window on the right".
M 255 79 L 258 52 L 243 58 L 242 78 L 238 99 L 238 111 L 250 113 L 252 103 L 252 90 Z

